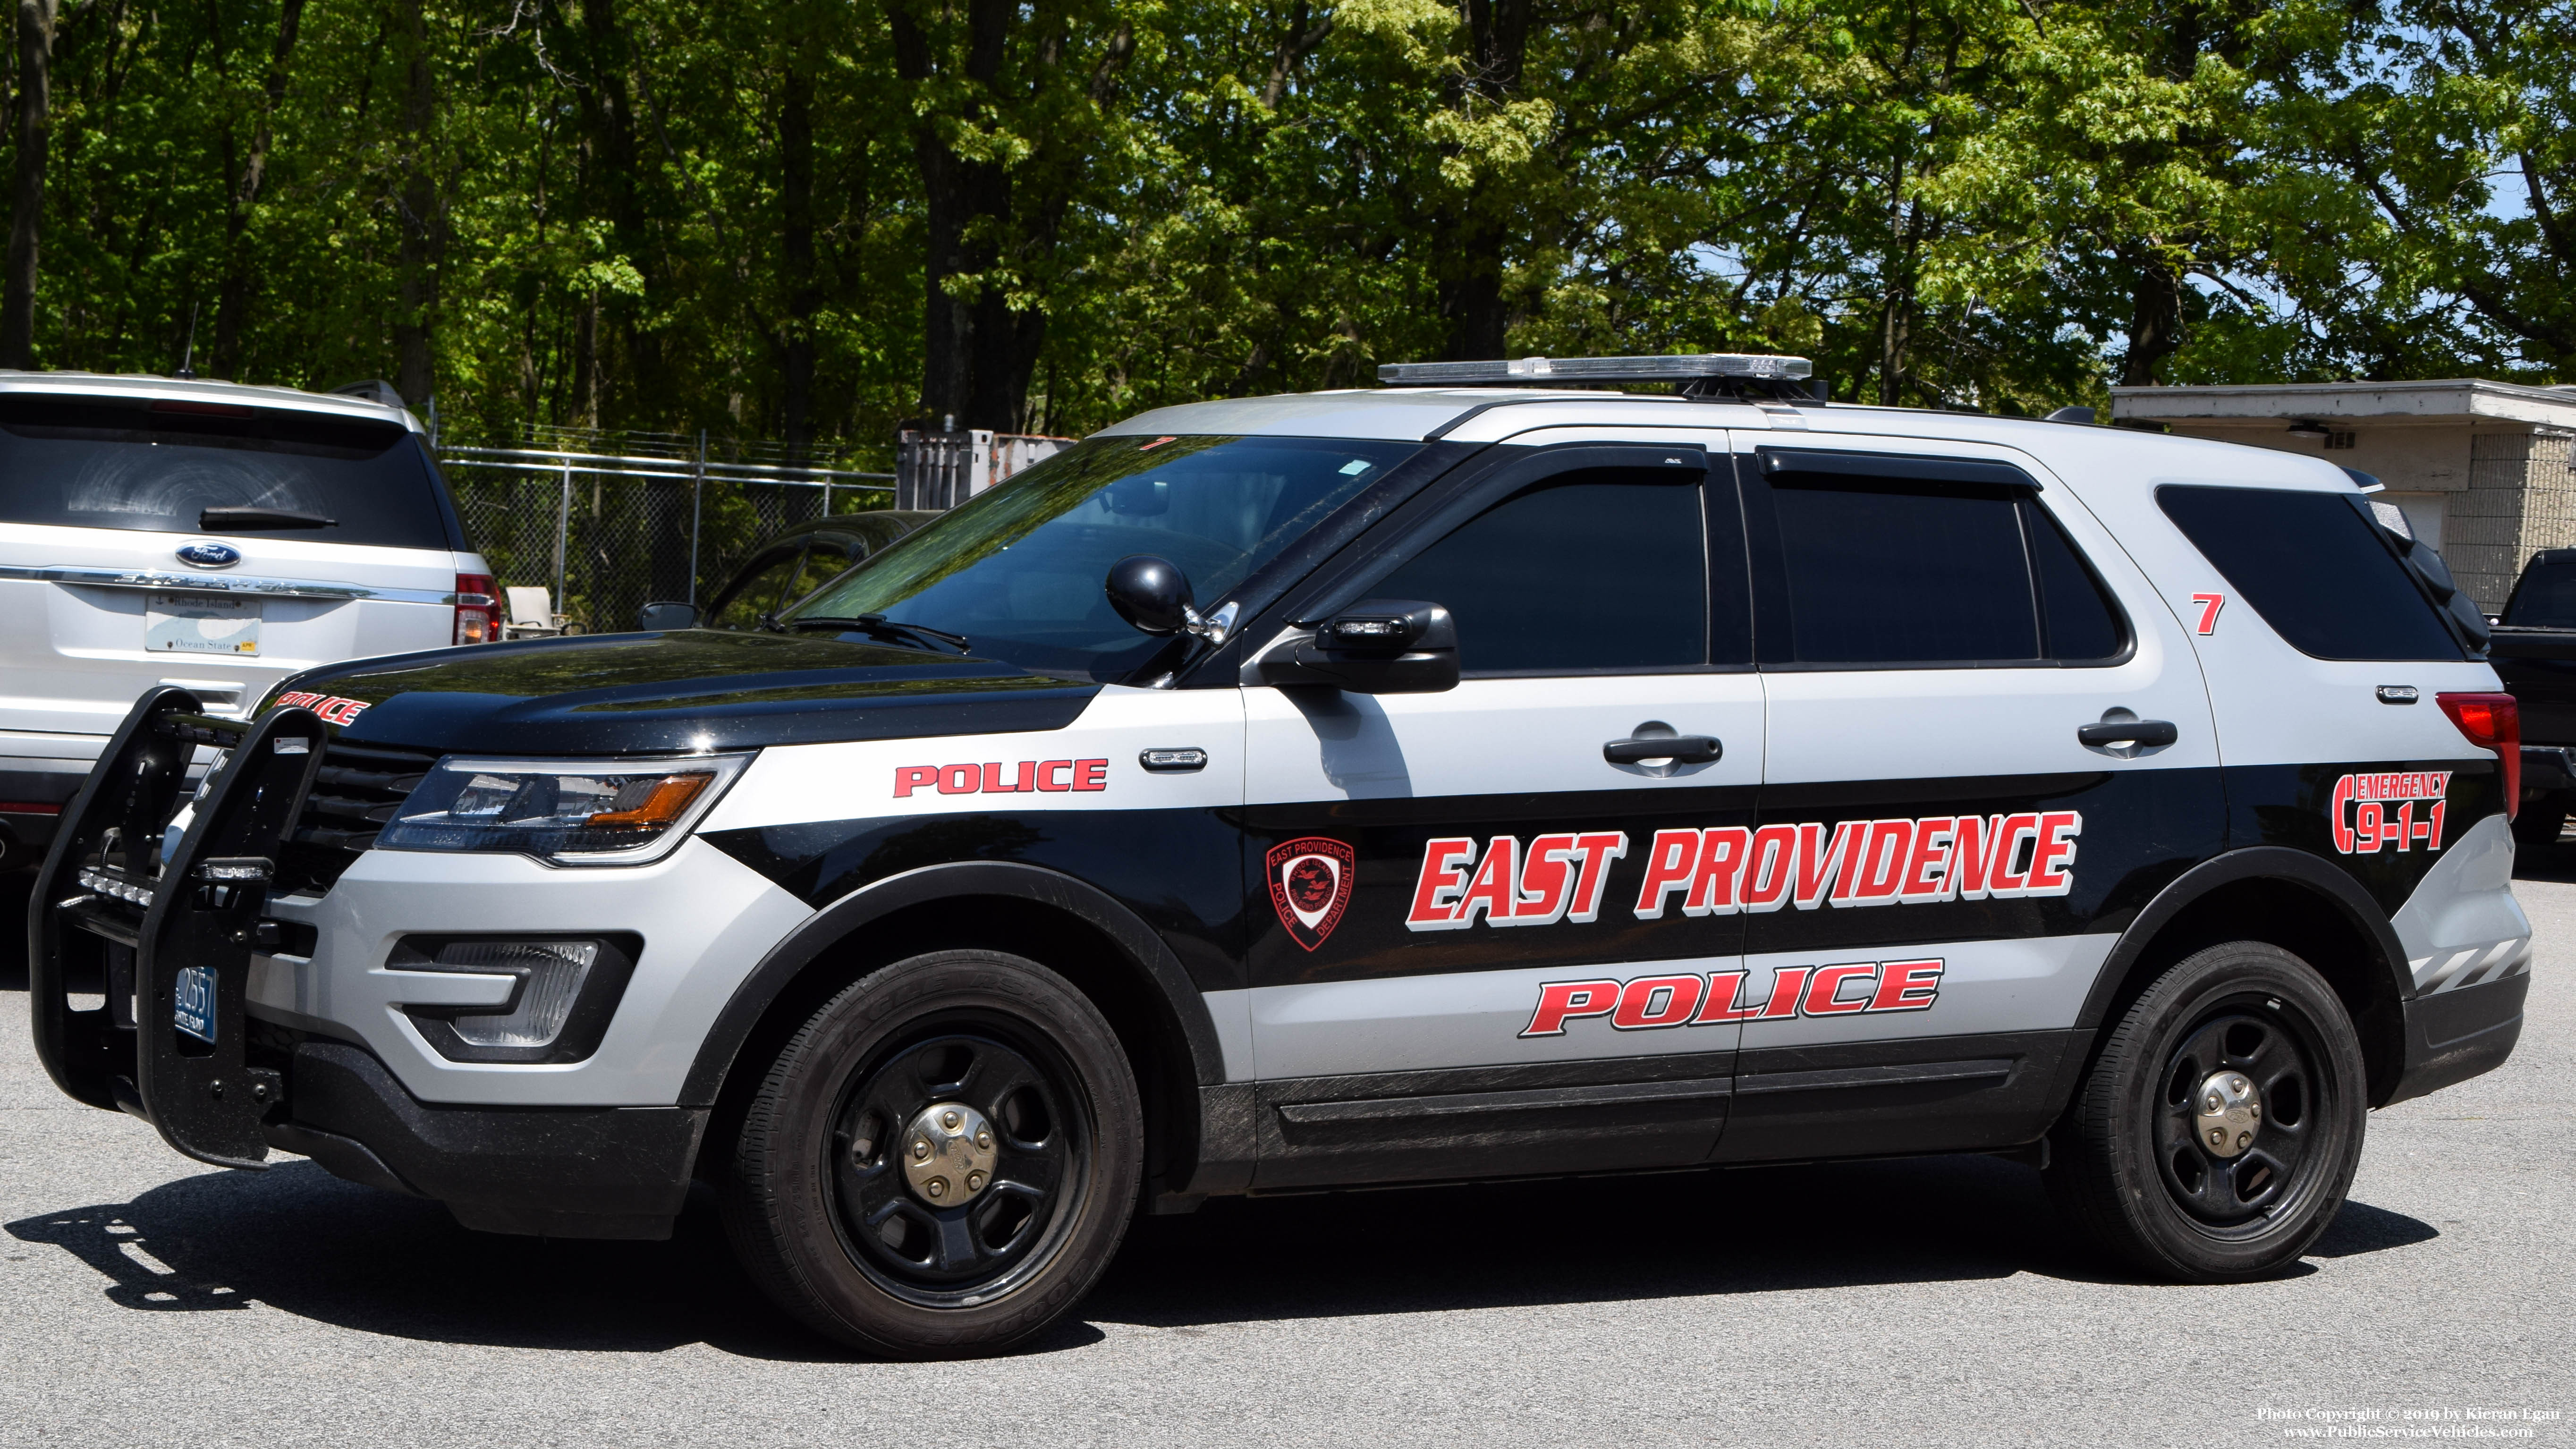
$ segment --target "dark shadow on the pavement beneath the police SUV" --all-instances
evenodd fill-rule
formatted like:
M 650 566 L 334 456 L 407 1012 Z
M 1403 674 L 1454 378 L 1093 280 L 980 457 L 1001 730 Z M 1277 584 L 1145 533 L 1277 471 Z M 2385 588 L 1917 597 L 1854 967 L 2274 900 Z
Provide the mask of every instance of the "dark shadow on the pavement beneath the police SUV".
M 670 1243 L 549 1243 L 466 1232 L 438 1204 L 289 1160 L 41 1212 L 5 1232 L 72 1253 L 137 1312 L 260 1302 L 443 1343 L 850 1356 L 752 1289 L 703 1194 Z M 2434 1235 L 2349 1204 L 2313 1256 Z M 1097 1343 L 1097 1323 L 1206 1328 L 2012 1274 L 2130 1281 L 2058 1230 L 2030 1168 L 1996 1158 L 1229 1199 L 1139 1222 L 1079 1318 L 1025 1351 Z

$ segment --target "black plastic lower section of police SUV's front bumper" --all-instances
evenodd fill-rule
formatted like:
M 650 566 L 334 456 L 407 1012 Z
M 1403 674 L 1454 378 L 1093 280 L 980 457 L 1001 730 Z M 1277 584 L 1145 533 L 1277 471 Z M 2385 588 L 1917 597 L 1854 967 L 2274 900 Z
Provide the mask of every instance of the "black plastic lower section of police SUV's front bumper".
M 433 1106 L 363 1047 L 307 1039 L 286 1065 L 270 1147 L 330 1173 L 430 1196 L 482 1232 L 670 1238 L 706 1109 Z

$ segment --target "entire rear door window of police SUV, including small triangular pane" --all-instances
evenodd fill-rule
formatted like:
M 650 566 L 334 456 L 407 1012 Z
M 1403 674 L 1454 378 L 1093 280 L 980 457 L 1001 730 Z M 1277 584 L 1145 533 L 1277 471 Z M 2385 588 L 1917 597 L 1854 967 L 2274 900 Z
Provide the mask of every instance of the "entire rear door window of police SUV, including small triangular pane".
M 1788 616 L 1765 632 L 1767 663 L 2040 665 L 2125 650 L 2102 583 L 2027 487 L 1865 467 L 1880 474 L 1767 469 Z

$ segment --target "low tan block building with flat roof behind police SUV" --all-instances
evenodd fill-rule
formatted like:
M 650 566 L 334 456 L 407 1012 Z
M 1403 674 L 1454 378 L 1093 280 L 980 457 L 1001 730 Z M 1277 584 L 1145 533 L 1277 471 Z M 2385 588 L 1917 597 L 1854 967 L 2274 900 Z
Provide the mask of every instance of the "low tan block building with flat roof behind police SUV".
M 2488 614 L 2540 549 L 2576 547 L 2576 387 L 2452 376 L 2115 387 L 2112 420 L 2313 454 L 2378 477 Z

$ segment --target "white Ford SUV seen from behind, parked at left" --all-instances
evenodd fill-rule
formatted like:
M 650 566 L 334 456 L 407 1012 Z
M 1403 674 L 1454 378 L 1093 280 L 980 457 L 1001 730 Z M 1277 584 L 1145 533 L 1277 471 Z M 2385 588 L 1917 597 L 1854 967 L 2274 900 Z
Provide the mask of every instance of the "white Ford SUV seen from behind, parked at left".
M 0 861 L 134 696 L 240 717 L 325 663 L 492 637 L 489 567 L 381 382 L 0 374 Z

